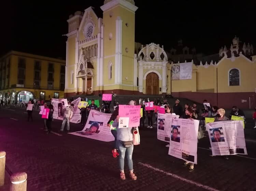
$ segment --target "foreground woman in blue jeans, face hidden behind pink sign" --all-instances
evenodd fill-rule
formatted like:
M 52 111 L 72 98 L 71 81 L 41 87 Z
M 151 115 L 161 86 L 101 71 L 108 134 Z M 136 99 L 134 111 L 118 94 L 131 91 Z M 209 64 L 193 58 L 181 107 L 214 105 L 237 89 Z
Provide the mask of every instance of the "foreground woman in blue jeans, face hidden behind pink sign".
M 130 101 L 129 105 L 134 105 L 133 101 Z M 133 162 L 132 162 L 132 152 L 133 152 L 133 134 L 132 128 L 118 128 L 119 116 L 116 116 L 114 123 L 112 124 L 113 127 L 116 127 L 117 130 L 117 148 L 119 150 L 119 169 L 120 169 L 120 178 L 125 180 L 125 172 L 124 172 L 124 165 L 125 165 L 125 155 L 128 162 L 128 168 L 130 170 L 130 178 L 132 180 L 136 180 L 137 176 L 133 173 Z M 131 141 L 130 147 L 124 147 L 124 141 Z

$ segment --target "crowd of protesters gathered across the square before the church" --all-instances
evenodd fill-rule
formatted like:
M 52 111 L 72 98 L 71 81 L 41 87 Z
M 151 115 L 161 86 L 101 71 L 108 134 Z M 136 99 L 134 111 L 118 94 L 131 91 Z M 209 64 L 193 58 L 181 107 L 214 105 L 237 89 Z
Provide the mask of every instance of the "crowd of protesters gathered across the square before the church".
M 88 101 L 87 98 L 82 99 L 81 101 Z M 184 119 L 197 119 L 200 120 L 199 126 L 200 128 L 205 128 L 205 118 L 214 118 L 214 121 L 227 121 L 231 120 L 231 116 L 238 116 L 242 117 L 245 119 L 244 112 L 239 109 L 237 106 L 233 106 L 230 114 L 226 116 L 226 111 L 223 108 L 218 108 L 218 106 L 209 106 L 207 100 L 203 101 L 203 107 L 199 108 L 197 106 L 197 103 L 193 103 L 193 105 L 190 105 L 186 103 L 184 105 L 184 108 L 180 104 L 180 100 L 176 99 L 175 103 L 173 105 L 169 104 L 167 99 L 154 99 L 152 100 L 154 102 L 154 105 L 160 106 L 162 108 L 165 108 L 165 112 L 169 113 L 171 115 L 178 115 L 180 118 Z M 158 111 L 155 109 L 152 110 L 145 110 L 145 103 L 146 102 L 151 102 L 149 98 L 147 99 L 142 99 L 140 98 L 139 100 L 131 100 L 128 104 L 129 105 L 140 105 L 142 108 L 142 116 L 140 118 L 140 126 L 139 129 L 152 129 L 153 124 L 157 124 L 157 115 Z M 29 103 L 32 103 L 29 101 Z M 42 105 L 42 102 L 40 103 Z M 81 124 L 84 126 L 86 124 L 89 112 L 91 110 L 100 110 L 104 111 L 105 113 L 111 113 L 111 101 L 103 101 L 102 107 L 98 107 L 95 104 L 94 100 L 91 100 L 91 104 L 89 104 L 86 108 L 81 108 Z M 118 112 L 119 112 L 119 103 L 114 100 L 114 112 L 112 113 L 109 121 L 108 121 L 108 126 L 110 128 L 110 131 L 112 135 L 115 138 L 115 141 L 113 142 L 113 148 L 112 148 L 112 156 L 114 158 L 118 157 L 119 161 L 119 170 L 120 170 L 120 179 L 125 179 L 125 173 L 124 173 L 124 158 L 127 156 L 127 162 L 128 162 L 128 168 L 130 170 L 129 176 L 132 180 L 136 180 L 137 176 L 133 172 L 133 163 L 132 163 L 132 153 L 133 153 L 133 134 L 132 134 L 132 129 L 130 128 L 118 128 Z M 208 106 L 207 106 L 208 105 Z M 52 104 L 46 104 L 44 103 L 45 108 L 50 109 L 49 117 L 48 119 L 44 120 L 44 127 L 47 131 L 47 133 L 51 132 L 51 122 L 53 121 L 53 105 Z M 71 104 L 71 101 L 68 102 L 68 108 L 64 108 L 62 113 L 63 113 L 63 120 L 62 124 L 60 127 L 59 132 L 63 132 L 65 125 L 67 124 L 67 132 L 70 131 L 70 124 L 69 121 L 73 115 L 73 108 L 74 105 Z M 155 122 L 153 123 L 153 118 L 155 116 Z M 28 120 L 32 119 L 32 111 L 28 112 Z M 253 114 L 253 118 L 255 120 L 255 127 L 256 128 L 256 108 L 255 112 Z M 147 119 L 147 121 L 146 121 Z M 145 124 L 148 126 L 145 127 Z M 218 132 L 215 132 L 217 134 Z M 210 143 L 209 143 L 210 144 Z M 170 145 L 167 144 L 166 147 L 169 147 Z M 212 156 L 212 155 L 210 155 Z M 228 159 L 228 156 L 224 156 L 225 159 Z M 188 161 L 185 161 L 183 163 L 183 166 L 189 166 L 189 171 L 194 170 L 194 164 L 189 163 Z

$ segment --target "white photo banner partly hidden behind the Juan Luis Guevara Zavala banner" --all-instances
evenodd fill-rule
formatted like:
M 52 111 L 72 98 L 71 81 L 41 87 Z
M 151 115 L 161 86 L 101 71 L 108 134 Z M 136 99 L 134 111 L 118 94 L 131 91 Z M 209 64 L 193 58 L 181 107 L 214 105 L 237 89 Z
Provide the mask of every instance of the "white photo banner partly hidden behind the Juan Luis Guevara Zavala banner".
M 157 115 L 157 139 L 165 142 L 170 142 L 171 120 L 179 118 L 178 115 L 160 114 Z

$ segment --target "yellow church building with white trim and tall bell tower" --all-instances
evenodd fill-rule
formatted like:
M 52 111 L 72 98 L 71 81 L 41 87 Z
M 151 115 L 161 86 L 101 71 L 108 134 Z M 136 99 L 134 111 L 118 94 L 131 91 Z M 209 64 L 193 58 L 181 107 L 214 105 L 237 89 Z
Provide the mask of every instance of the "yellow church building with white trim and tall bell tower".
M 229 50 L 219 52 L 217 62 L 192 62 L 191 78 L 172 80 L 174 65 L 162 45 L 149 43 L 138 49 L 134 42 L 133 0 L 105 0 L 103 18 L 92 7 L 77 11 L 68 19 L 65 96 L 75 94 L 172 94 L 197 102 L 230 108 L 255 107 L 256 58 L 253 47 L 237 39 Z M 150 39 L 149 39 L 150 42 Z M 227 54 L 229 52 L 229 54 Z M 137 51 L 136 51 L 137 52 Z M 250 58 L 250 59 L 248 59 Z

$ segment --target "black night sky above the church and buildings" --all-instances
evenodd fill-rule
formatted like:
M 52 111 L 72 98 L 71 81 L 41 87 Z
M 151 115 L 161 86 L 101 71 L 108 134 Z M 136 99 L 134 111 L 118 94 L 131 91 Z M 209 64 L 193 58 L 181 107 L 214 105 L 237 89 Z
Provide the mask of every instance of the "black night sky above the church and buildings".
M 66 37 L 62 34 L 68 33 L 69 15 L 89 6 L 101 13 L 103 1 L 5 2 L 0 11 L 0 55 L 17 50 L 65 59 Z M 135 0 L 139 7 L 135 40 L 142 44 L 155 42 L 168 50 L 183 39 L 183 45 L 196 47 L 197 53 L 213 54 L 224 45 L 229 48 L 237 35 L 240 41 L 253 44 L 256 54 L 256 1 L 245 2 Z

